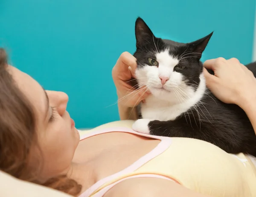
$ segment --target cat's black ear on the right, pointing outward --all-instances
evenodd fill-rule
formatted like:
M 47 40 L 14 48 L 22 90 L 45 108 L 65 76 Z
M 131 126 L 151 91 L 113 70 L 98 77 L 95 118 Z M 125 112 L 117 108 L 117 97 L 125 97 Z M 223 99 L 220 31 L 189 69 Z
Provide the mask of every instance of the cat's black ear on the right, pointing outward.
M 212 34 L 213 32 L 205 36 L 204 38 L 189 43 L 189 49 L 195 53 L 193 54 L 193 56 L 196 56 L 198 58 L 202 57 L 202 53 L 204 52 L 205 47 L 207 46 L 210 38 L 212 37 Z

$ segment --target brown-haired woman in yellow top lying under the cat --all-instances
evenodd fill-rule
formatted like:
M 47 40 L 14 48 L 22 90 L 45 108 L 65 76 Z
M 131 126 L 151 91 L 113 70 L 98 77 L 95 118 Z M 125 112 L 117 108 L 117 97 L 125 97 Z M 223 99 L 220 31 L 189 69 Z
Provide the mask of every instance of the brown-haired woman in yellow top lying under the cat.
M 236 59 L 209 60 L 205 66 L 215 72 L 205 72 L 212 92 L 242 107 L 256 128 L 252 73 Z M 131 91 L 126 82 L 135 68 L 136 60 L 127 52 L 113 67 L 119 98 Z M 121 119 L 137 118 L 133 107 L 139 96 L 119 102 Z M 45 91 L 29 75 L 8 66 L 0 50 L 0 170 L 74 196 L 256 194 L 255 167 L 247 158 L 241 161 L 200 140 L 152 137 L 128 128 L 80 137 L 66 111 L 67 101 L 65 93 Z

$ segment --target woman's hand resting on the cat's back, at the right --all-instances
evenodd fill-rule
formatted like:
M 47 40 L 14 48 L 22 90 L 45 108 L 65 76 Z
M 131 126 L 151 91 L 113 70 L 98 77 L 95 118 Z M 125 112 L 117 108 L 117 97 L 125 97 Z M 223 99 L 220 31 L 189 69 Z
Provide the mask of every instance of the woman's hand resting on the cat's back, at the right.
M 238 59 L 211 59 L 204 62 L 204 67 L 214 72 L 211 75 L 204 68 L 207 87 L 221 101 L 241 108 L 256 101 L 256 78 Z

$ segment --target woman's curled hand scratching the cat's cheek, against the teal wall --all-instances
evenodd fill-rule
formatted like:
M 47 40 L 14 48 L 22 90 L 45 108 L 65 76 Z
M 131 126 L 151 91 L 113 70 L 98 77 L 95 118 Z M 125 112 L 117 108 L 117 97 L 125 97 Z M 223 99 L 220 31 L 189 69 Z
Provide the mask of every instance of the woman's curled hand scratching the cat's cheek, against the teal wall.
M 116 86 L 118 102 L 125 107 L 137 106 L 150 94 L 145 92 L 147 90 L 146 87 L 138 88 L 132 85 L 132 82 L 135 81 L 134 73 L 136 68 L 136 58 L 129 52 L 123 52 L 112 70 L 112 78 Z

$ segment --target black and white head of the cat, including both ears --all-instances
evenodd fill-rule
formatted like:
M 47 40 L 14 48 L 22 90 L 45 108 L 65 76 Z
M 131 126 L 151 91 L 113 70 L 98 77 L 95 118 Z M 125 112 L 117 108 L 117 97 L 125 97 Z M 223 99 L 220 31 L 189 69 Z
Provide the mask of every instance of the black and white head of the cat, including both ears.
M 134 57 L 139 86 L 164 100 L 193 96 L 200 83 L 205 83 L 200 58 L 212 33 L 191 43 L 177 43 L 156 38 L 144 20 L 137 18 Z

